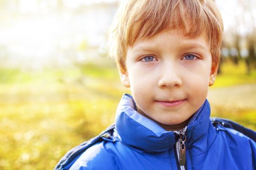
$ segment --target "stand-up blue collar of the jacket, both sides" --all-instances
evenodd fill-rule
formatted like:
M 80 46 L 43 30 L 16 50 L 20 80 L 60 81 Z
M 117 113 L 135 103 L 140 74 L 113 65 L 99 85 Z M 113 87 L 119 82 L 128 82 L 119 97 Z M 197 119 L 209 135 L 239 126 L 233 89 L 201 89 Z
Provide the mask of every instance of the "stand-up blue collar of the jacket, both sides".
M 214 128 L 210 122 L 210 105 L 206 100 L 190 120 L 186 132 L 188 147 L 202 145 L 202 152 L 214 140 Z M 148 153 L 164 152 L 174 148 L 175 134 L 166 131 L 155 121 L 136 111 L 136 104 L 129 94 L 124 94 L 116 114 L 116 131 L 124 144 Z M 210 135 L 211 134 L 211 135 Z

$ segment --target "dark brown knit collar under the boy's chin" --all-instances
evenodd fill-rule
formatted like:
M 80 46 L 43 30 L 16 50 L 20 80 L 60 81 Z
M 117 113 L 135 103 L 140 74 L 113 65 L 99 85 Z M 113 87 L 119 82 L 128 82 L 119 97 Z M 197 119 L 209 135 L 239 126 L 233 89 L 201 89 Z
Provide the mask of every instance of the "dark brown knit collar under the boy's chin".
M 137 111 L 139 114 L 141 114 L 142 116 L 148 118 L 148 119 L 151 119 L 153 121 L 155 121 L 156 123 L 158 123 L 159 126 L 161 126 L 162 128 L 164 128 L 166 131 L 179 131 L 181 129 L 183 129 L 189 122 L 190 118 L 179 123 L 179 124 L 174 124 L 174 125 L 169 125 L 169 124 L 163 124 L 163 123 L 160 123 L 158 122 L 157 120 L 155 119 L 152 119 L 150 118 L 148 115 L 146 115 L 142 110 L 139 109 L 139 107 L 137 106 Z

